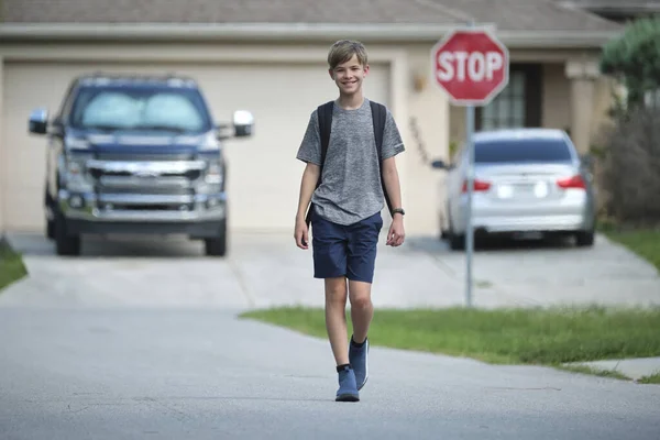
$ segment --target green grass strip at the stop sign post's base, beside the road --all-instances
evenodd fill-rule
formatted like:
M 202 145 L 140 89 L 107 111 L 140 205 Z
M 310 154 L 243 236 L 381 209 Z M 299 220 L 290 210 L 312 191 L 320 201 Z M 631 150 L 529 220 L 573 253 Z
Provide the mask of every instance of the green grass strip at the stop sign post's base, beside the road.
M 348 314 L 346 314 L 348 315 Z M 242 315 L 326 338 L 322 309 L 275 308 Z M 348 319 L 350 329 L 350 319 Z M 349 330 L 350 331 L 350 330 Z M 377 309 L 373 345 L 543 364 L 660 355 L 660 308 Z

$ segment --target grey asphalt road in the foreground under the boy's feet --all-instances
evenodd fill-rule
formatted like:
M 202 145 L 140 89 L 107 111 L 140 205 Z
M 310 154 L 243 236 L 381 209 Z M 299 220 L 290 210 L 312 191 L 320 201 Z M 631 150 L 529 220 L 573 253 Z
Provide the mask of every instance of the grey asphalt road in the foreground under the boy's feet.
M 205 310 L 0 309 L 0 438 L 658 439 L 660 386 L 327 343 Z

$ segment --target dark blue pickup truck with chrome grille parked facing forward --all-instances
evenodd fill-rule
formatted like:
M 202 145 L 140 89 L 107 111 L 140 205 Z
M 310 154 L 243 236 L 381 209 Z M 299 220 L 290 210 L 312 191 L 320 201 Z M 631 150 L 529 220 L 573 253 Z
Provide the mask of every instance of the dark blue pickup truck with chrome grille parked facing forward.
M 82 234 L 185 234 L 210 256 L 228 242 L 223 142 L 252 135 L 250 111 L 216 123 L 196 80 L 183 76 L 76 77 L 47 139 L 46 235 L 58 255 L 78 255 Z

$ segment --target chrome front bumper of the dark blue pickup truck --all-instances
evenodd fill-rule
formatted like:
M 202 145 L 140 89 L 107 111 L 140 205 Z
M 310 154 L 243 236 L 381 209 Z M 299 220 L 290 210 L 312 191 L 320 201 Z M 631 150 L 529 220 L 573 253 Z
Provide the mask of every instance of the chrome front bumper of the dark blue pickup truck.
M 212 238 L 227 219 L 224 193 L 195 196 L 120 195 L 61 190 L 58 208 L 70 234 L 188 234 Z

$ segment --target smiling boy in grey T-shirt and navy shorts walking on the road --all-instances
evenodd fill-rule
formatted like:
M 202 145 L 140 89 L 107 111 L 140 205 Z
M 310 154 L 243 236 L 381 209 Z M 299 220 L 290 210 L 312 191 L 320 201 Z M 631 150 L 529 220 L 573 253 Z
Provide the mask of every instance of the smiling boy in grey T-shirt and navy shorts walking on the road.
M 359 391 L 369 376 L 367 332 L 373 318 L 371 285 L 383 227 L 383 189 L 392 204 L 392 226 L 386 244 L 399 246 L 405 238 L 405 212 L 395 163 L 395 156 L 404 151 L 404 145 L 392 113 L 386 110 L 382 155 L 378 157 L 372 108 L 362 90 L 370 68 L 364 46 L 360 42 L 338 41 L 330 48 L 328 65 L 330 77 L 339 88 L 339 98 L 333 101 L 324 161 L 321 161 L 318 110 L 311 113 L 297 154 L 307 166 L 300 184 L 294 237 L 298 248 L 308 249 L 306 215 L 309 207 L 314 276 L 324 279 L 326 328 L 339 376 L 336 400 L 359 402 Z M 317 188 L 319 176 L 321 183 Z M 346 341 L 346 295 L 353 323 L 350 343 Z

